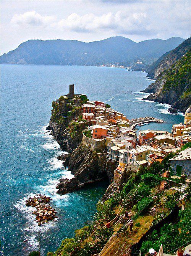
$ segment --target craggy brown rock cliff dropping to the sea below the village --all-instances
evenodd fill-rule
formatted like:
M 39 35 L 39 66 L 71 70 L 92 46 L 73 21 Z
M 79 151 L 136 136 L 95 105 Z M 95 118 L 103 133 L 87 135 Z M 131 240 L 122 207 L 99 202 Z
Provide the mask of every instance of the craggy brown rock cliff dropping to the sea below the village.
M 83 130 L 87 129 L 88 124 L 88 121 L 81 119 L 82 103 L 80 100 L 71 100 L 63 96 L 52 102 L 52 116 L 47 130 L 51 130 L 61 149 L 69 152 L 63 165 L 74 175 L 71 180 L 59 180 L 57 193 L 61 195 L 104 177 L 108 177 L 110 183 L 113 182 L 116 164 L 106 162 L 104 150 L 92 151 L 82 143 Z M 77 117 L 78 121 L 72 121 L 74 117 Z

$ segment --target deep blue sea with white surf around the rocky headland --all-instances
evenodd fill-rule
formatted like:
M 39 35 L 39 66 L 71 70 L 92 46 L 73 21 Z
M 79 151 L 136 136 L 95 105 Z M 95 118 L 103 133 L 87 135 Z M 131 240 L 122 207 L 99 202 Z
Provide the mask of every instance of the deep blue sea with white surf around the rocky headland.
M 95 204 L 105 191 L 106 184 L 101 182 L 65 196 L 56 194 L 58 179 L 70 177 L 70 173 L 57 160 L 61 150 L 45 127 L 52 101 L 68 93 L 71 83 L 76 93 L 105 101 L 129 119 L 154 116 L 165 121 L 142 126 L 142 130 L 170 131 L 172 124 L 183 121 L 181 115 L 167 114 L 165 104 L 141 101 L 140 91 L 152 83 L 146 73 L 88 66 L 1 65 L 0 215 L 6 256 L 28 255 L 37 249 L 39 227 L 25 198 L 45 193 L 58 211 L 58 221 L 40 228 L 41 252 L 46 255 L 92 219 Z M 24 239 L 29 241 L 23 243 Z

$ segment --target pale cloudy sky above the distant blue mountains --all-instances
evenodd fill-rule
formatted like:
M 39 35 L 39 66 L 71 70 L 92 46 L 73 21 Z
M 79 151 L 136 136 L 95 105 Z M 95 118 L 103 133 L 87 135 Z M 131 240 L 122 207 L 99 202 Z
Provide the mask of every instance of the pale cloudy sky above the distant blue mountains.
M 30 39 L 190 36 L 190 1 L 1 0 L 1 54 Z

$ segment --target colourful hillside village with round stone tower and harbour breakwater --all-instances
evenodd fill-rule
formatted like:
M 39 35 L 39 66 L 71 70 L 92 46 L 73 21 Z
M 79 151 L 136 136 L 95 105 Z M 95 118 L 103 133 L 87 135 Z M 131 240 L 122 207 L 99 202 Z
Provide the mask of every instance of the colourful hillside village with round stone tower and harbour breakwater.
M 78 100 L 81 94 L 74 94 L 74 85 L 65 97 Z M 87 97 L 87 96 L 85 96 Z M 174 124 L 172 133 L 163 130 L 139 130 L 136 128 L 149 122 L 162 123 L 154 117 L 140 117 L 129 120 L 122 113 L 101 101 L 87 100 L 81 106 L 82 118 L 73 118 L 73 122 L 86 122 L 88 128 L 83 131 L 83 144 L 92 151 L 107 155 L 107 161 L 117 164 L 113 181 L 118 183 L 126 170 L 138 171 L 141 166 L 149 166 L 154 161 L 162 162 L 164 157 L 180 150 L 191 142 L 191 107 L 186 110 L 184 124 Z M 191 178 L 190 148 L 179 152 L 170 159 L 175 178 Z

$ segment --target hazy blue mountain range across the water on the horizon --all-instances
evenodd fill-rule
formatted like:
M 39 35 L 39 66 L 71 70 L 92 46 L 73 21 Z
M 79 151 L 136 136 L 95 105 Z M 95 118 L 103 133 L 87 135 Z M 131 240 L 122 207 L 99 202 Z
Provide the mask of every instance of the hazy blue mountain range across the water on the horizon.
M 123 36 L 85 43 L 76 40 L 29 40 L 0 57 L 6 64 L 89 65 L 125 63 L 144 60 L 151 64 L 184 41 L 180 37 L 152 39 L 136 43 Z

